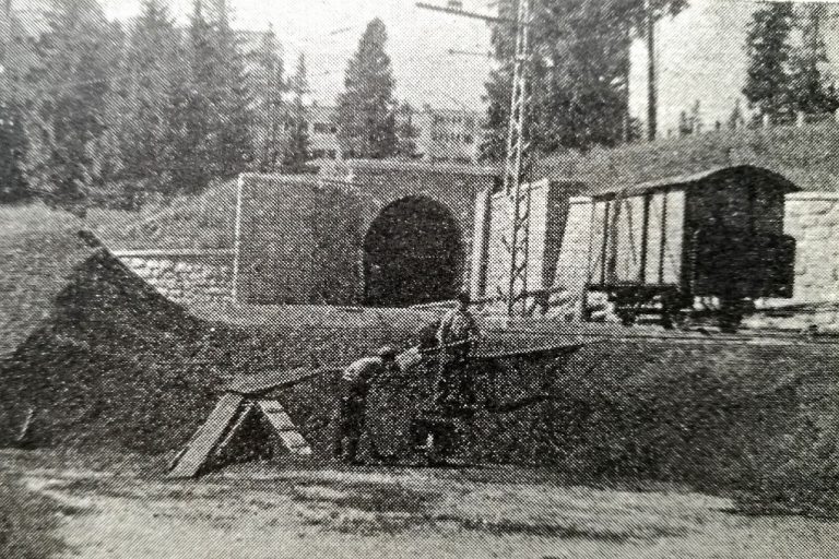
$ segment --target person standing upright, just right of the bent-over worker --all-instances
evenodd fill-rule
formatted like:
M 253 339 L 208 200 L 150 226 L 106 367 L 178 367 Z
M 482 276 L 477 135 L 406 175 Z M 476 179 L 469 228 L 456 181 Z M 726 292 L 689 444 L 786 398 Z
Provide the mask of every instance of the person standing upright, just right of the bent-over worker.
M 458 307 L 442 317 L 437 330 L 440 362 L 435 404 L 445 415 L 469 414 L 475 403 L 469 356 L 481 333 L 469 304 L 469 294 L 460 294 Z

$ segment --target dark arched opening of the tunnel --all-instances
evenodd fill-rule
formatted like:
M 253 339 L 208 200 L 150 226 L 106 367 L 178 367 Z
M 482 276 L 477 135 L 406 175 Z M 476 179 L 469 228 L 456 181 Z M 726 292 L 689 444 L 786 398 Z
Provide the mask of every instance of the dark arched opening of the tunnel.
M 364 304 L 406 307 L 453 298 L 463 258 L 449 210 L 409 197 L 386 206 L 364 239 Z

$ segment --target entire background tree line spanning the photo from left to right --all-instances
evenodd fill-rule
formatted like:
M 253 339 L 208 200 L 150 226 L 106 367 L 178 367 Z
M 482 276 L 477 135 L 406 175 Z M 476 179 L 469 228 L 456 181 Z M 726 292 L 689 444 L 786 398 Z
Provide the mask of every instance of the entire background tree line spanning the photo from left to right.
M 536 152 L 586 151 L 640 136 L 628 110 L 629 45 L 645 35 L 645 0 L 532 0 L 527 115 Z M 185 27 L 164 2 L 108 22 L 96 0 L 51 0 L 46 29 L 5 41 L 0 73 L 0 202 L 39 197 L 83 211 L 135 209 L 150 198 L 200 192 L 244 170 L 308 169 L 308 92 L 303 57 L 286 75 L 272 33 L 244 49 L 226 2 L 194 0 Z M 650 0 L 653 19 L 686 0 Z M 221 7 L 221 8 L 220 8 Z M 515 19 L 517 0 L 499 0 Z M 752 17 L 743 88 L 757 121 L 783 123 L 839 107 L 823 73 L 826 7 L 773 2 Z M 9 35 L 7 33 L 7 35 Z M 371 21 L 338 96 L 345 157 L 415 157 L 412 108 L 394 98 L 387 29 Z M 515 51 L 512 23 L 493 26 L 497 61 L 486 82 L 482 157 L 506 148 Z M 251 41 L 252 43 L 252 41 Z M 745 123 L 737 104 L 729 127 Z M 701 128 L 699 106 L 681 133 Z

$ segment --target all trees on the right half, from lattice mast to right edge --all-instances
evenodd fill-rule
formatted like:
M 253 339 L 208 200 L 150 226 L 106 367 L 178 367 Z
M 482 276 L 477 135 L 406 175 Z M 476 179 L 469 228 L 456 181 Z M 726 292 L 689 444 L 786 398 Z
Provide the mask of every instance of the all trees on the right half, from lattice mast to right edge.
M 646 36 L 645 19 L 675 15 L 687 0 L 531 0 L 529 142 L 541 153 L 612 147 L 640 138 L 642 122 L 629 117 L 629 46 Z M 512 22 L 518 0 L 499 0 L 499 16 Z M 766 2 L 748 24 L 743 95 L 729 128 L 788 123 L 834 112 L 839 96 L 825 66 L 828 7 Z M 488 104 L 482 155 L 504 157 L 512 83 L 515 25 L 493 26 L 497 62 L 486 83 Z M 721 128 L 723 123 L 717 123 Z M 698 100 L 682 114 L 681 135 L 702 128 Z

